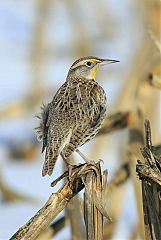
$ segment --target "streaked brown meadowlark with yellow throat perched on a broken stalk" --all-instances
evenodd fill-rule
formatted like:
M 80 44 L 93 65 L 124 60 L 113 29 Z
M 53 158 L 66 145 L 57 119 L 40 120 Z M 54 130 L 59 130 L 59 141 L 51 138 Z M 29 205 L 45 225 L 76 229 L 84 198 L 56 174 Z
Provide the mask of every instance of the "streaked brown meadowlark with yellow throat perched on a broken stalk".
M 52 174 L 60 154 L 67 162 L 74 151 L 85 159 L 78 148 L 98 133 L 106 115 L 106 94 L 95 81 L 96 73 L 115 62 L 91 56 L 75 61 L 53 100 L 42 107 L 36 128 L 42 152 L 46 149 L 42 176 Z

